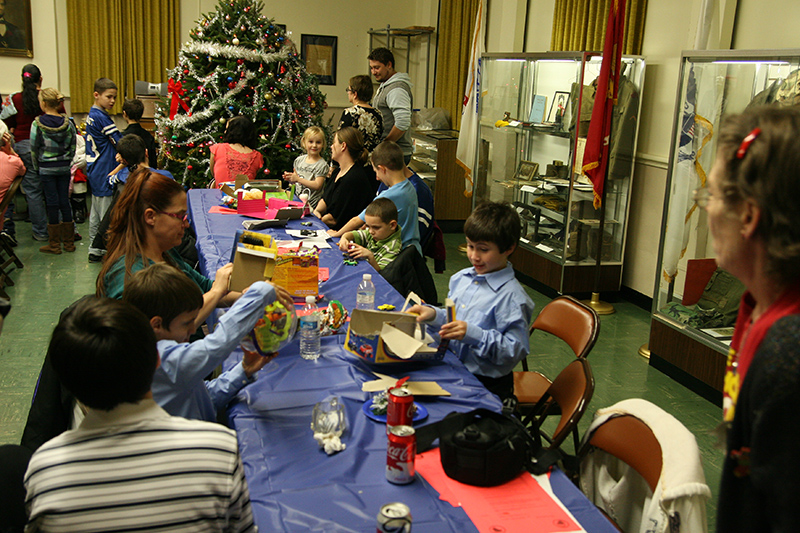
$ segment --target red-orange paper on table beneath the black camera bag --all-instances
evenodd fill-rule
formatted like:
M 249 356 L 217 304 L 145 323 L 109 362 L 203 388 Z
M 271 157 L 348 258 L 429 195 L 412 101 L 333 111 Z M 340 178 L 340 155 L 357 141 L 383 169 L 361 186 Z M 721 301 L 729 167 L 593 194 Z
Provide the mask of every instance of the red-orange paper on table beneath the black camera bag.
M 417 474 L 439 492 L 439 498 L 463 508 L 478 531 L 551 533 L 581 530 L 528 472 L 498 487 L 465 485 L 444 473 L 439 448 L 417 455 L 415 465 Z

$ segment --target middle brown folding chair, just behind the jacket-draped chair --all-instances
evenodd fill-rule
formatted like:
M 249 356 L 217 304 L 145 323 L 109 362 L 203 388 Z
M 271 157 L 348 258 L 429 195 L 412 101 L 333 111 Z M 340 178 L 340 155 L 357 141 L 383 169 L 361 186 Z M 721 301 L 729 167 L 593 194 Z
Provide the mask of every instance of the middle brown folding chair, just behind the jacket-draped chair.
M 586 359 L 575 359 L 553 380 L 550 388 L 534 406 L 531 418 L 526 419 L 525 422 L 535 422 L 533 427 L 539 428 L 540 434 L 550 443 L 547 447 L 551 449 L 559 448 L 567 436 L 572 433 L 577 452 L 578 422 L 589 407 L 593 395 L 592 368 Z M 561 418 L 553 435 L 548 436 L 542 431 L 541 426 L 544 419 L 551 413 L 550 405 L 553 402 L 558 404 Z

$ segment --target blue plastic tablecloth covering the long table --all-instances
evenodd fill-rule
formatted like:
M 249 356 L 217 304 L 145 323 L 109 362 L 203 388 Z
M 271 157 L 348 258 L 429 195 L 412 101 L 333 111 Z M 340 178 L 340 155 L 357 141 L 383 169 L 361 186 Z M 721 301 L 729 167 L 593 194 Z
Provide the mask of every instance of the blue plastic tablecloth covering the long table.
M 189 192 L 189 209 L 197 231 L 201 266 L 213 273 L 228 262 L 233 234 L 243 217 L 208 214 L 220 193 Z M 315 228 L 322 228 L 316 219 Z M 301 228 L 291 221 L 290 228 Z M 282 230 L 268 230 L 279 239 Z M 364 262 L 344 266 L 341 252 L 324 250 L 320 265 L 330 268 L 330 280 L 320 292 L 355 304 L 355 289 L 361 275 L 374 270 Z M 376 303 L 399 306 L 402 298 L 383 278 L 373 277 Z M 323 302 L 324 305 L 324 302 Z M 386 429 L 368 419 L 361 407 L 369 400 L 361 384 L 374 379 L 372 370 L 412 380 L 435 380 L 451 393 L 449 397 L 417 397 L 429 412 L 425 424 L 441 420 L 452 411 L 484 407 L 499 411 L 500 402 L 456 359 L 447 354 L 440 363 L 404 364 L 402 367 L 371 368 L 344 350 L 344 335 L 323 337 L 322 356 L 317 361 L 299 357 L 297 342 L 286 347 L 245 387 L 229 409 L 232 427 L 250 487 L 256 524 L 261 531 L 372 531 L 383 504 L 403 502 L 411 508 L 415 532 L 476 531 L 466 513 L 439 500 L 438 493 L 421 477 L 397 486 L 386 481 Z M 226 367 L 241 360 L 236 351 Z M 345 406 L 348 429 L 342 437 L 347 448 L 327 456 L 312 438 L 311 411 L 316 402 L 336 395 Z M 588 531 L 614 531 L 594 506 L 560 472 L 551 483 L 556 494 Z M 535 517 L 531 517 L 535 520 Z

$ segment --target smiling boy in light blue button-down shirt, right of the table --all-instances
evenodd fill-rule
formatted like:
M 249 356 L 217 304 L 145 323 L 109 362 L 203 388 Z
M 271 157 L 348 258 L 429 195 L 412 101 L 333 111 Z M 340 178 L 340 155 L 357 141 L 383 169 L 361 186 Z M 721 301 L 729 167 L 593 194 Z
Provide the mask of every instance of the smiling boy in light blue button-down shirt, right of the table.
M 467 218 L 464 235 L 472 267 L 450 278 L 448 294 L 457 320 L 446 322 L 446 310 L 430 306 L 409 312 L 438 327 L 467 369 L 504 401 L 514 395 L 514 367 L 530 351 L 533 314 L 533 301 L 508 262 L 520 237 L 519 215 L 508 204 L 483 203 Z

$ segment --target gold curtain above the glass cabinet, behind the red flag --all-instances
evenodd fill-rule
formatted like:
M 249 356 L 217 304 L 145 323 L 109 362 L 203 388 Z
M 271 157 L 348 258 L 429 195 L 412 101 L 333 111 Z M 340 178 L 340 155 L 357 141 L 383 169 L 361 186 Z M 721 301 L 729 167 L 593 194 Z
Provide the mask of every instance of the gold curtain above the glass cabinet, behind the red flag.
M 602 51 L 608 10 L 614 0 L 556 0 L 550 49 Z M 628 0 L 622 53 L 642 53 L 647 0 Z

